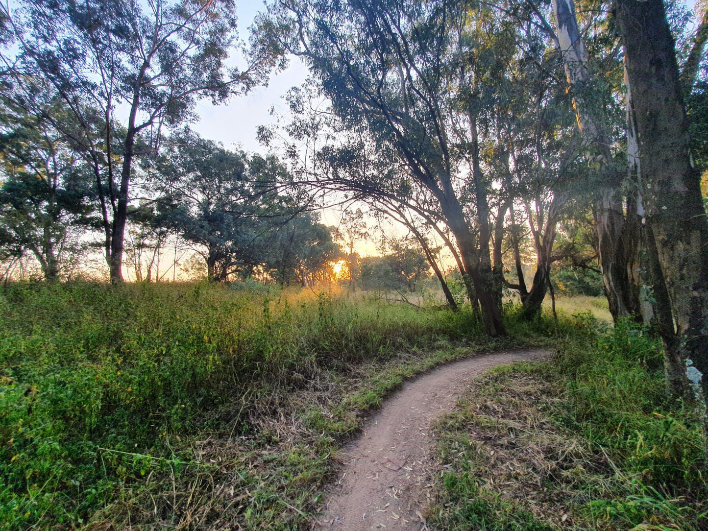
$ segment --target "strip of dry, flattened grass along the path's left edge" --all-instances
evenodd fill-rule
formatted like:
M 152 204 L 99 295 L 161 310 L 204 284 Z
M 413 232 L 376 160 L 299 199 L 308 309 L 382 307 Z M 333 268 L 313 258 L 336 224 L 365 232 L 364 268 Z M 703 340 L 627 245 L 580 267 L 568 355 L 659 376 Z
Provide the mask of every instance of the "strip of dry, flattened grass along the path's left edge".
M 476 350 L 439 346 L 344 370 L 313 367 L 307 378 L 290 375 L 251 389 L 233 409 L 215 414 L 215 430 L 174 441 L 176 452 L 193 464 L 175 473 L 168 463 L 152 477 L 136 478 L 134 487 L 126 484 L 120 501 L 95 515 L 89 529 L 307 527 L 340 464 L 338 448 L 365 412 L 406 377 Z

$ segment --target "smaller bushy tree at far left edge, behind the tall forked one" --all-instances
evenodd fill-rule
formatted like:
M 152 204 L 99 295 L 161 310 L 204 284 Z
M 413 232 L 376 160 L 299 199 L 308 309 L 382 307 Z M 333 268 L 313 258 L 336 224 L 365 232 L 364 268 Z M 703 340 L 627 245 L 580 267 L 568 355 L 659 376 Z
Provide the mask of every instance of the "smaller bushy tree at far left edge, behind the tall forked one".
M 31 253 L 46 280 L 68 273 L 76 261 L 81 234 L 91 227 L 94 188 L 83 161 L 67 138 L 37 115 L 13 105 L 1 93 L 0 225 L 2 246 L 13 254 Z M 61 115 L 60 101 L 43 109 Z

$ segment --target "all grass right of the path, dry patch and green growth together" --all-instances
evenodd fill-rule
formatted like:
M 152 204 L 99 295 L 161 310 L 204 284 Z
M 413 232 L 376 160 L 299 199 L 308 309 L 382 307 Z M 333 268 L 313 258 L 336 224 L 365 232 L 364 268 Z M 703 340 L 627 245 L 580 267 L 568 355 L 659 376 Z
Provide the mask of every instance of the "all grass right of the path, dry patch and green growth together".
M 552 363 L 493 370 L 438 424 L 447 468 L 430 523 L 707 528 L 705 440 L 664 394 L 656 339 L 628 323 L 594 333 L 590 314 L 564 320 Z

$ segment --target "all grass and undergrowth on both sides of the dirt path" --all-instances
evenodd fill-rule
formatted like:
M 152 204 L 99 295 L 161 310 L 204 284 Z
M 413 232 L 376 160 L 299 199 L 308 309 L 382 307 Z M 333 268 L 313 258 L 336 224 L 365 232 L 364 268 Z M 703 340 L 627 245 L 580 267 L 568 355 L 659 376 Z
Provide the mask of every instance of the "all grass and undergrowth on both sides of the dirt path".
M 430 525 L 706 527 L 704 441 L 663 394 L 656 341 L 588 312 L 506 314 L 496 340 L 467 311 L 347 293 L 9 285 L 0 527 L 304 529 L 338 449 L 401 382 L 532 344 L 554 363 L 494 371 L 438 426 Z

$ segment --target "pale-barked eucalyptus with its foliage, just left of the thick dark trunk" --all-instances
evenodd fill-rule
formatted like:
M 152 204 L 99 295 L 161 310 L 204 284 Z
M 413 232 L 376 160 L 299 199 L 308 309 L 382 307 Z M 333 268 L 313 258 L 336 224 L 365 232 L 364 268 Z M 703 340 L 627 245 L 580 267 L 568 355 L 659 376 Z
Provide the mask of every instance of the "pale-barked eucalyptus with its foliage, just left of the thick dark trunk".
M 599 15 L 591 16 L 586 23 L 598 28 L 595 34 L 600 42 L 593 47 L 595 55 L 591 57 L 586 51 L 587 34 L 578 25 L 573 0 L 553 0 L 552 8 L 555 30 L 540 10 L 536 14 L 561 54 L 578 131 L 585 140 L 586 159 L 597 170 L 597 175 L 590 179 L 596 190 L 593 215 L 610 312 L 615 320 L 638 315 L 641 310 L 635 261 L 641 239 L 641 197 L 636 195 L 634 184 L 623 186 L 627 164 L 613 152 L 619 133 L 617 125 L 622 123 L 617 118 L 617 98 L 612 90 L 613 86 L 619 86 L 618 76 L 622 72 L 616 40 L 608 29 L 603 10 L 592 10 Z

